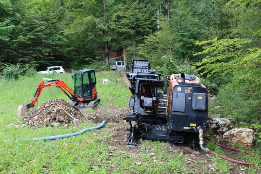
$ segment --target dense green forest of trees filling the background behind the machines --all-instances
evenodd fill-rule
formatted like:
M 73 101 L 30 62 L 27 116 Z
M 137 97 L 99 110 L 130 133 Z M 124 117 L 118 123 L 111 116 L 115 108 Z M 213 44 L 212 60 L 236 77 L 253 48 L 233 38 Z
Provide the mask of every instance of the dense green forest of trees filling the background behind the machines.
M 255 0 L 0 0 L 1 77 L 106 69 L 126 50 L 128 62 L 199 76 L 215 95 L 210 116 L 260 126 L 260 22 Z

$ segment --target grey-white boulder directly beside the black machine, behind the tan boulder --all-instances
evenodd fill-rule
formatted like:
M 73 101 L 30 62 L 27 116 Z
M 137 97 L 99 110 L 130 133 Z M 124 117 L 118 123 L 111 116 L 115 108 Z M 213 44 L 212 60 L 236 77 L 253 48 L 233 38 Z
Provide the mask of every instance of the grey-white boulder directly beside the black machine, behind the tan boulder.
M 208 117 L 206 127 L 212 131 L 219 131 L 222 134 L 233 128 L 229 119 L 219 117 Z

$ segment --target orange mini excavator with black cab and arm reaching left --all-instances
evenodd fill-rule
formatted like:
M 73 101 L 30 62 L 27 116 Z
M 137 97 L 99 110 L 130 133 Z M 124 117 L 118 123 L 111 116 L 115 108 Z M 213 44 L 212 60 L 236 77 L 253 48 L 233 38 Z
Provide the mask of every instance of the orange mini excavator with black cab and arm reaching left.
M 20 105 L 17 108 L 17 115 L 21 116 L 23 113 L 28 112 L 30 108 L 36 106 L 37 100 L 39 99 L 39 96 L 41 95 L 44 88 L 52 86 L 56 86 L 57 88 L 61 89 L 61 91 L 73 101 L 71 106 L 81 110 L 84 110 L 87 107 L 92 107 L 95 109 L 100 102 L 100 99 L 97 98 L 97 89 L 95 86 L 95 71 L 91 69 L 79 70 L 74 72 L 72 77 L 74 79 L 74 90 L 71 90 L 64 83 L 64 81 L 60 79 L 40 81 L 40 83 L 37 85 L 35 95 L 31 102 L 25 105 Z M 45 82 L 47 82 L 47 84 L 45 84 Z

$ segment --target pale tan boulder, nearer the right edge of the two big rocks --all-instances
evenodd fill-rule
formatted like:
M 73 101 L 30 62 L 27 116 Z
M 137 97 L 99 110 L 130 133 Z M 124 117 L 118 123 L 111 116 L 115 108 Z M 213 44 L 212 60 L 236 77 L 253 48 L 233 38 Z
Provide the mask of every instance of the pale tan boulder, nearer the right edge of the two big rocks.
M 245 147 L 251 147 L 254 144 L 255 135 L 252 129 L 235 128 L 224 133 L 223 138 L 231 143 L 240 143 Z

